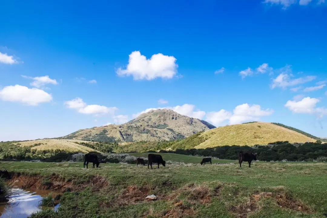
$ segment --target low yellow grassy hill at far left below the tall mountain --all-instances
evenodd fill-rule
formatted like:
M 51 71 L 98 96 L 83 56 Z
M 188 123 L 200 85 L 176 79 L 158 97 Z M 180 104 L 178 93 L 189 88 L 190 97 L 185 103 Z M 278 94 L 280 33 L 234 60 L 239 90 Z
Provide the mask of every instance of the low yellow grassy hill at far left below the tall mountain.
M 60 149 L 60 150 L 66 150 L 71 152 L 83 152 L 88 153 L 90 151 L 96 151 L 92 148 L 88 148 L 86 146 L 78 145 L 74 142 L 83 142 L 79 140 L 69 140 L 69 139 L 39 139 L 39 140 L 33 140 L 33 141 L 26 141 L 26 142 L 19 142 L 20 146 L 28 146 L 33 149 L 38 150 L 50 150 L 50 149 Z M 90 143 L 90 142 L 88 142 Z M 16 143 L 18 144 L 18 143 Z M 39 144 L 35 146 L 35 144 Z

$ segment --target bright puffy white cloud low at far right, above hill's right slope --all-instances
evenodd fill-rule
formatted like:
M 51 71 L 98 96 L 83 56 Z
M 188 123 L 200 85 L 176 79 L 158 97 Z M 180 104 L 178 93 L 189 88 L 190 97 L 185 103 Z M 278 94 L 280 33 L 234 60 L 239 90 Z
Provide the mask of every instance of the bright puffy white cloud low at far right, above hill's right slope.
M 306 97 L 301 101 L 287 101 L 285 107 L 294 113 L 300 114 L 313 114 L 315 112 L 316 104 L 319 102 L 319 99 Z

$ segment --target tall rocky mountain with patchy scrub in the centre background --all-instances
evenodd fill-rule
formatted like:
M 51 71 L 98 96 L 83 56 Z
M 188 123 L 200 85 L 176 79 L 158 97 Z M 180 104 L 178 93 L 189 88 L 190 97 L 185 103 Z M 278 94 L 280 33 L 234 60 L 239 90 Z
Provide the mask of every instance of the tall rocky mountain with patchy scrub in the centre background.
M 169 109 L 151 110 L 122 125 L 83 129 L 58 139 L 98 142 L 139 142 L 182 139 L 215 126 Z

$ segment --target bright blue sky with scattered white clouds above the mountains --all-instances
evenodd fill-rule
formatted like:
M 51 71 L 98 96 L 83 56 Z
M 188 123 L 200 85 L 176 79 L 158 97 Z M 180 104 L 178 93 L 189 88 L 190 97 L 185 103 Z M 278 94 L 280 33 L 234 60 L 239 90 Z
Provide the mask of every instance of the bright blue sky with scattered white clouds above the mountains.
M 171 108 L 327 137 L 327 3 L 0 3 L 0 141 Z M 160 101 L 159 101 L 160 100 Z

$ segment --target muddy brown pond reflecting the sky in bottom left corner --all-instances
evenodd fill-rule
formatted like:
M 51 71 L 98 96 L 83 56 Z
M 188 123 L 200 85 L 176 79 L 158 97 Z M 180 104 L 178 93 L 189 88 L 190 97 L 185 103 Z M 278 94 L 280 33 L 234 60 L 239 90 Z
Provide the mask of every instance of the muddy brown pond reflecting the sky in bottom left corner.
M 33 190 L 33 189 L 11 189 L 10 200 L 8 203 L 0 203 L 0 218 L 27 218 L 32 213 L 42 209 L 39 207 L 42 197 L 47 196 L 49 190 Z M 59 204 L 55 206 L 54 210 L 57 210 Z

